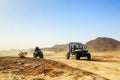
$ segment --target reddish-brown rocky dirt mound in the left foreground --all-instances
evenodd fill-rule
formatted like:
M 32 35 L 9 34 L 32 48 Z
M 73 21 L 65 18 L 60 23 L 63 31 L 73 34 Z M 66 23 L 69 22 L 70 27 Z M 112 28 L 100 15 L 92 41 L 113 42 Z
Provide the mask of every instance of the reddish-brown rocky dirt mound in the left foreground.
M 108 80 L 92 72 L 49 60 L 0 58 L 0 80 Z

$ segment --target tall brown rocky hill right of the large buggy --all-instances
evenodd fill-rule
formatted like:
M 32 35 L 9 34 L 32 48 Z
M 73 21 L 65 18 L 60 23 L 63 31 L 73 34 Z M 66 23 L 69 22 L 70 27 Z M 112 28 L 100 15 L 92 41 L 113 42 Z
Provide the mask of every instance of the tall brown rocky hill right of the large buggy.
M 98 37 L 86 43 L 91 51 L 113 51 L 120 49 L 120 41 L 107 37 Z

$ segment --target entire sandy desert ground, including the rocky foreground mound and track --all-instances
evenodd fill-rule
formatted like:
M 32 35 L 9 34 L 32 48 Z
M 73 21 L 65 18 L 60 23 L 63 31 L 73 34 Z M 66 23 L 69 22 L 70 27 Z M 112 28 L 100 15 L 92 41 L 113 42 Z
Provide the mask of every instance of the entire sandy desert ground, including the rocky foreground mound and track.
M 119 52 L 91 52 L 91 61 L 65 55 L 44 52 L 44 59 L 33 59 L 30 53 L 21 59 L 17 54 L 0 54 L 0 80 L 120 80 Z

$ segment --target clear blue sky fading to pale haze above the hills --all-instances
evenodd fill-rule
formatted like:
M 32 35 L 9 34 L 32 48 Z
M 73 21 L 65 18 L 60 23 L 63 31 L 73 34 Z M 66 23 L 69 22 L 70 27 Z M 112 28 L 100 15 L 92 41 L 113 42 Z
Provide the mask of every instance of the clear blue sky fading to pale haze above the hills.
M 0 0 L 0 50 L 120 40 L 120 0 Z

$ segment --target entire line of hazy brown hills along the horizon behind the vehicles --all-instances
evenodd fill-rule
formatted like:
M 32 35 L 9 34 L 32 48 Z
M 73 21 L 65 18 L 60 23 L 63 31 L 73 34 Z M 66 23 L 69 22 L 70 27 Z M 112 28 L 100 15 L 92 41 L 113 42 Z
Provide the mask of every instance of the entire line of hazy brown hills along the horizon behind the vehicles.
M 94 40 L 91 40 L 85 44 L 90 51 L 114 51 L 120 50 L 120 41 L 107 38 L 107 37 L 98 37 Z M 53 47 L 49 48 L 41 48 L 42 51 L 52 51 L 52 52 L 63 52 L 68 50 L 68 44 L 56 44 Z M 33 53 L 34 49 L 23 50 L 29 53 Z M 19 53 L 19 50 L 8 50 L 8 51 L 0 51 L 0 53 Z

